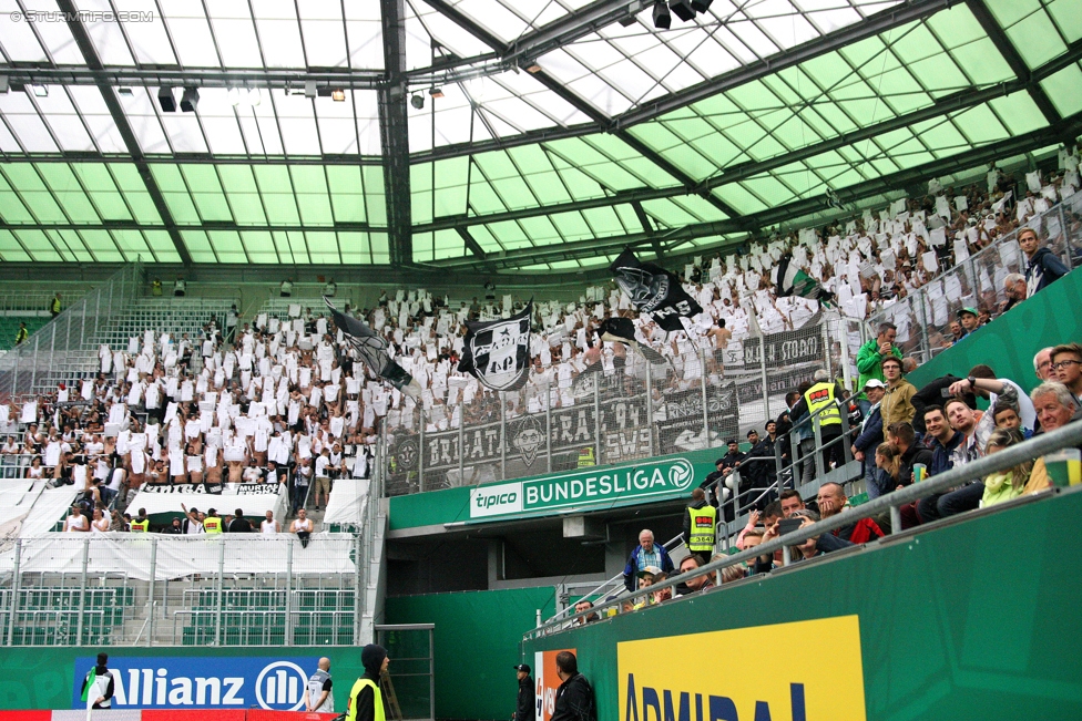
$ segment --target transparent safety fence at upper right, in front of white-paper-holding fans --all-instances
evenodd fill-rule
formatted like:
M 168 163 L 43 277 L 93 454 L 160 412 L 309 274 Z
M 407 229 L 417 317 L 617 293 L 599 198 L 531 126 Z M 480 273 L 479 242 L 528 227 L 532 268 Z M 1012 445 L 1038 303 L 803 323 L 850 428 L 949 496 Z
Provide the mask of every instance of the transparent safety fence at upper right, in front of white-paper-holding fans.
M 1024 227 L 1032 228 L 1040 246 L 1049 248 L 1068 268 L 1076 268 L 1082 265 L 1080 213 L 1082 193 L 1076 193 L 1033 216 Z M 958 340 L 959 310 L 976 308 L 992 317 L 1000 312 L 1009 300 L 1004 281 L 1015 272 L 1025 272 L 1025 255 L 1019 247 L 1018 231 L 1011 231 L 870 316 L 865 338 L 874 337 L 879 323 L 892 322 L 898 327 L 896 342 L 902 351 L 920 362 L 930 360 Z

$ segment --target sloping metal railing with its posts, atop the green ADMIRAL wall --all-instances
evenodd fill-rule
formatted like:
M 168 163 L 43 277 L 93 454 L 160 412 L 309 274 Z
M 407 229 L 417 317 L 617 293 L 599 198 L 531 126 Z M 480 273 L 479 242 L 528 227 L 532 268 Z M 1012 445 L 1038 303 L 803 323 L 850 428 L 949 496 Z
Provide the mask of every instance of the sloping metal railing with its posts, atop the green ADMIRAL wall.
M 927 481 L 915 483 L 872 501 L 864 503 L 857 507 L 848 508 L 823 521 L 809 523 L 792 533 L 787 533 L 777 538 L 765 540 L 753 549 L 742 550 L 722 559 L 712 562 L 685 574 L 671 576 L 664 581 L 654 584 L 649 590 L 636 591 L 630 596 L 609 597 L 594 602 L 589 610 L 572 612 L 568 616 L 558 616 L 538 627 L 523 637 L 530 640 L 558 634 L 563 630 L 583 626 L 598 618 L 605 618 L 623 612 L 637 612 L 639 609 L 649 608 L 654 605 L 655 594 L 671 589 L 673 596 L 676 594 L 676 586 L 684 584 L 692 577 L 704 575 L 711 576 L 715 587 L 721 587 L 725 580 L 725 569 L 734 568 L 738 573 L 737 577 L 745 576 L 744 568 L 754 565 L 758 557 L 774 556 L 776 552 L 782 552 L 784 566 L 790 565 L 794 554 L 805 542 L 818 538 L 820 535 L 829 534 L 835 529 L 854 524 L 861 518 L 875 518 L 880 516 L 889 517 L 890 533 L 902 532 L 901 507 L 917 503 L 921 498 L 936 494 L 947 493 L 952 488 L 964 486 L 970 483 L 981 483 L 986 477 L 993 473 L 1012 468 L 1021 463 L 1037 457 L 1048 456 L 1062 449 L 1082 445 L 1082 423 L 1070 423 L 1064 428 L 1044 433 L 1018 445 L 1003 449 L 992 455 L 978 459 L 964 465 L 956 466 L 942 474 L 936 475 Z M 1053 462 L 1049 459 L 1049 462 Z M 1066 475 L 1066 472 L 1063 474 Z M 1076 488 L 1074 488 L 1076 491 Z M 1012 502 L 1002 504 L 1004 507 L 1010 503 L 1025 503 L 1029 498 L 1021 497 Z M 953 519 L 951 519 L 953 521 Z M 843 552 L 844 553 L 844 552 Z M 672 601 L 664 601 L 665 604 Z

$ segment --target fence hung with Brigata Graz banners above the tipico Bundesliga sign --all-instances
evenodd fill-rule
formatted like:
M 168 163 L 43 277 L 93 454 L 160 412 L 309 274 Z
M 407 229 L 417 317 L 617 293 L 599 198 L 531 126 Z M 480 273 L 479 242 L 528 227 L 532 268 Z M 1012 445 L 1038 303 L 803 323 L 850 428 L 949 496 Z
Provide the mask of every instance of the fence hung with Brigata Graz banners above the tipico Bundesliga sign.
M 851 339 L 851 342 L 849 340 Z M 724 445 L 787 411 L 817 369 L 848 378 L 859 323 L 818 313 L 797 330 L 678 347 L 663 364 L 633 350 L 595 372 L 534 368 L 519 391 L 455 381 L 382 424 L 386 495 L 557 473 Z M 568 369 L 570 370 L 570 368 Z M 743 441 L 743 437 L 741 437 Z

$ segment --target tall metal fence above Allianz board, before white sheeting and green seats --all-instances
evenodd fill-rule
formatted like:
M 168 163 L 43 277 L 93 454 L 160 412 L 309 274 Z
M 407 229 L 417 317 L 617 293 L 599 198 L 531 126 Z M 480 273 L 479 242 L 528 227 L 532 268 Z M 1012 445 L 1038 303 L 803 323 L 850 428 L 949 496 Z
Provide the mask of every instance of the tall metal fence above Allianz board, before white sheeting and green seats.
M 0 645 L 357 645 L 370 638 L 363 618 L 372 611 L 366 535 L 316 534 L 306 544 L 293 534 L 7 542 Z

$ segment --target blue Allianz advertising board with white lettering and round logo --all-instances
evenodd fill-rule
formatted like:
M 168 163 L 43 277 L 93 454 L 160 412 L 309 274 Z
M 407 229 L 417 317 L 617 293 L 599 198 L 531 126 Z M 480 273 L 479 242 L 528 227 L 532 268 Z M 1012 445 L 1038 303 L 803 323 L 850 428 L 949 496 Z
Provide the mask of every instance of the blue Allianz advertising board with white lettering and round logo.
M 75 659 L 72 708 L 95 658 Z M 304 710 L 305 686 L 317 657 L 127 657 L 109 659 L 114 709 Z

